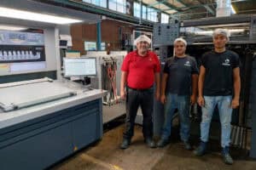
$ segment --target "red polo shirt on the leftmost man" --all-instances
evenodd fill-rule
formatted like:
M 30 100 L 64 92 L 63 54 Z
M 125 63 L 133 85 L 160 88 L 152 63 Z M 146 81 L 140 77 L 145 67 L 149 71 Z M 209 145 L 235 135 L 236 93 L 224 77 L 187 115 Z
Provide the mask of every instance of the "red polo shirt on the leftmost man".
M 121 70 L 127 72 L 129 88 L 150 88 L 154 84 L 154 73 L 160 72 L 160 61 L 151 51 L 146 56 L 133 51 L 125 56 Z

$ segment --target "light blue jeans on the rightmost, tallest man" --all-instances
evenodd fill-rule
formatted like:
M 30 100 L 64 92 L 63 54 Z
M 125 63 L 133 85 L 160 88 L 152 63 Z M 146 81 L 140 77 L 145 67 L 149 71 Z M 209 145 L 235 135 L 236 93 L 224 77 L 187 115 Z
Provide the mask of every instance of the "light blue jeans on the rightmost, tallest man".
M 212 113 L 218 105 L 219 120 L 221 123 L 221 146 L 230 146 L 232 96 L 204 96 L 205 106 L 201 107 L 201 141 L 207 142 L 209 137 L 209 128 L 212 121 Z

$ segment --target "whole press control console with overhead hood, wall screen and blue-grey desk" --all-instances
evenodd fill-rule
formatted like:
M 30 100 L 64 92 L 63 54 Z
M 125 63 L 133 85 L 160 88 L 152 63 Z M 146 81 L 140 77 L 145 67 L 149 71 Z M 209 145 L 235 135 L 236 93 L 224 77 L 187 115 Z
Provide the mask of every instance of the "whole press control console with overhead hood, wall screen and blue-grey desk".
M 96 14 L 29 0 L 3 0 L 0 7 L 100 20 Z M 102 139 L 107 92 L 63 77 L 60 52 L 72 46 L 71 24 L 0 17 L 0 25 L 22 28 L 0 29 L 0 169 L 45 169 Z M 79 71 L 90 70 L 84 62 L 78 63 Z

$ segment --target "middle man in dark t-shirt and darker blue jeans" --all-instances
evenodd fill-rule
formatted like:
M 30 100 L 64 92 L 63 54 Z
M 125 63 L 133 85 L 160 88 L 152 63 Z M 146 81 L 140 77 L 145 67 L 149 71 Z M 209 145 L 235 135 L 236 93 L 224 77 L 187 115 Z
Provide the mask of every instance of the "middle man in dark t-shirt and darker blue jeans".
M 165 122 L 157 145 L 164 147 L 168 144 L 171 135 L 172 116 L 177 109 L 181 122 L 180 136 L 185 149 L 190 150 L 189 106 L 190 102 L 192 105 L 196 102 L 198 68 L 195 59 L 185 54 L 187 42 L 183 38 L 177 38 L 173 44 L 175 56 L 166 61 L 162 77 L 161 102 L 165 104 Z

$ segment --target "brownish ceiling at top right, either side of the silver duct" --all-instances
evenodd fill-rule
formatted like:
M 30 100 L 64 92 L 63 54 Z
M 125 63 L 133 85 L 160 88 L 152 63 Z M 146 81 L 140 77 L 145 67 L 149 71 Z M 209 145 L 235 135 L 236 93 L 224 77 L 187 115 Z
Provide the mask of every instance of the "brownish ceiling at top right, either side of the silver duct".
M 180 20 L 216 16 L 216 0 L 142 0 L 147 6 L 158 8 Z M 255 0 L 231 0 L 236 14 L 256 14 Z

